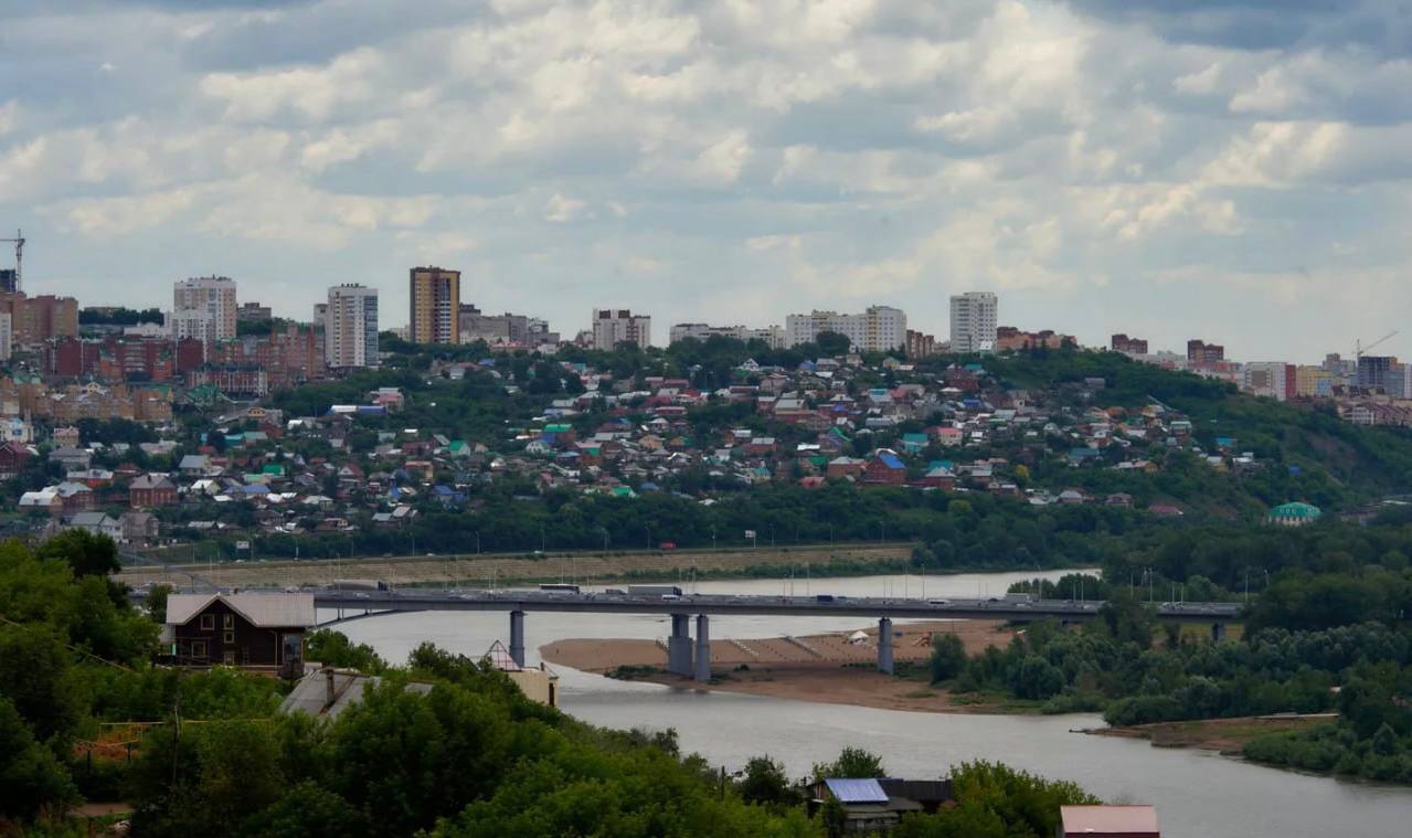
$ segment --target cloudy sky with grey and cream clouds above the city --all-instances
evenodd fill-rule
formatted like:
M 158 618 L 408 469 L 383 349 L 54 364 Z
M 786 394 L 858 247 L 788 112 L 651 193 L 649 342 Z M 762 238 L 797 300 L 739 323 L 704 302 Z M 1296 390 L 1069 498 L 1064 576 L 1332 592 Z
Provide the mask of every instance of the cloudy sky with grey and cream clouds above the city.
M 1190 8 L 1199 7 L 1197 11 Z M 1412 355 L 1408 0 L 0 0 L 27 287 Z M 7 256 L 0 256 L 6 264 Z

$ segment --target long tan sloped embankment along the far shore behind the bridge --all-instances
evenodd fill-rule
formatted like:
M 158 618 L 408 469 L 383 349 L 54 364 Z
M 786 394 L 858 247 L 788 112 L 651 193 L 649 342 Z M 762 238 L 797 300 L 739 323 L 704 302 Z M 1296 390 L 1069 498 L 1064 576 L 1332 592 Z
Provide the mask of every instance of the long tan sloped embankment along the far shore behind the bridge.
M 823 567 L 833 561 L 905 560 L 911 544 L 861 544 L 823 547 L 791 547 L 760 550 L 674 550 L 641 553 L 575 553 L 527 557 L 498 555 L 441 555 L 405 558 L 360 558 L 318 561 L 256 561 L 217 565 L 191 564 L 164 567 L 131 567 L 117 578 L 128 585 L 144 582 L 188 584 L 182 571 L 213 578 L 217 585 L 322 585 L 333 579 L 383 579 L 394 585 L 465 584 L 486 585 L 532 581 L 606 581 L 621 578 L 665 578 L 678 574 L 743 574 L 754 567 Z

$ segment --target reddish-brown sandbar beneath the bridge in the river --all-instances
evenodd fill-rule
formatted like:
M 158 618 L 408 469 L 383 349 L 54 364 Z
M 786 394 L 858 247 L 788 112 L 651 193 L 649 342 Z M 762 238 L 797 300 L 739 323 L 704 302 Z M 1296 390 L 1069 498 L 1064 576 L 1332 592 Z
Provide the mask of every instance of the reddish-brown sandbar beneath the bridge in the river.
M 861 629 L 867 639 L 850 642 L 853 630 L 801 637 L 755 640 L 712 640 L 710 684 L 664 671 L 662 640 L 556 640 L 539 647 L 551 664 L 606 674 L 618 667 L 652 667 L 635 680 L 686 687 L 726 690 L 774 698 L 849 704 L 882 709 L 922 712 L 1001 712 L 995 704 L 977 704 L 973 697 L 957 700 L 946 690 L 931 688 L 925 678 L 884 675 L 877 663 L 877 626 Z M 925 666 L 933 633 L 955 633 L 966 651 L 977 654 L 987 646 L 1005 646 L 1014 632 L 990 620 L 945 620 L 897 627 L 894 659 Z

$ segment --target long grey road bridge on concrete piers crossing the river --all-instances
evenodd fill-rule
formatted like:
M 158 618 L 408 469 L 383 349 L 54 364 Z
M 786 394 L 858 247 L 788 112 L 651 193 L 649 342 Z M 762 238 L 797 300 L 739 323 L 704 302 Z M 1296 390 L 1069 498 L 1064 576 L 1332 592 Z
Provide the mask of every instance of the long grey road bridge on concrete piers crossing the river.
M 503 610 L 510 612 L 510 656 L 524 666 L 525 613 L 659 613 L 672 618 L 672 635 L 666 644 L 666 670 L 679 675 L 710 680 L 710 618 L 727 615 L 750 616 L 857 616 L 878 620 L 878 670 L 891 674 L 892 620 L 895 619 L 988 619 L 1034 622 L 1055 619 L 1076 623 L 1097 619 L 1103 602 L 1075 602 L 1065 599 L 1022 601 L 988 599 L 908 599 L 882 596 L 747 596 L 727 594 L 689 595 L 633 595 L 633 594 L 573 594 L 563 591 L 333 591 L 313 594 L 315 608 L 339 612 L 357 610 L 357 616 L 376 613 L 424 610 Z M 1211 640 L 1220 640 L 1226 623 L 1240 616 L 1234 602 L 1163 602 L 1155 605 L 1158 619 L 1178 623 L 1211 626 Z M 695 654 L 690 620 L 696 618 Z M 695 659 L 695 660 L 693 660 Z

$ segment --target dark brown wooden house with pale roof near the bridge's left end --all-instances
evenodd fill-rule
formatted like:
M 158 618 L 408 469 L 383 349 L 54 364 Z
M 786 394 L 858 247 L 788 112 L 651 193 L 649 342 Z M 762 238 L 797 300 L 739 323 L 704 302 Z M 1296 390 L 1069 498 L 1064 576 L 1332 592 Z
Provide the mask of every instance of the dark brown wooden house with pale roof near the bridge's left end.
M 182 666 L 277 667 L 304 674 L 312 594 L 172 594 L 162 642 Z

